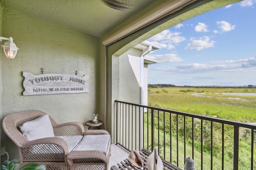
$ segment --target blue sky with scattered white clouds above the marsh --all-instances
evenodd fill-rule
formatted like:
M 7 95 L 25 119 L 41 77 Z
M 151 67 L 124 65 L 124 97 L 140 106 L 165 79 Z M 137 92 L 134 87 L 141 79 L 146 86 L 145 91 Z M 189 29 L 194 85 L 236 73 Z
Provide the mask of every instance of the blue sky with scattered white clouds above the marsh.
M 256 0 L 225 6 L 158 33 L 148 84 L 256 85 Z

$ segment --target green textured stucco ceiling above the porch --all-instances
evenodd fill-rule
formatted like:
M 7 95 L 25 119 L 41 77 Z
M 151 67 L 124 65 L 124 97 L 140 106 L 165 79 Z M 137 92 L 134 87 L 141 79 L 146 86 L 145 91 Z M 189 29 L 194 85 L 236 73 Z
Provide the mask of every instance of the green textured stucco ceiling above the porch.
M 4 8 L 101 37 L 155 0 L 131 0 L 134 10 L 112 9 L 100 0 L 0 0 Z

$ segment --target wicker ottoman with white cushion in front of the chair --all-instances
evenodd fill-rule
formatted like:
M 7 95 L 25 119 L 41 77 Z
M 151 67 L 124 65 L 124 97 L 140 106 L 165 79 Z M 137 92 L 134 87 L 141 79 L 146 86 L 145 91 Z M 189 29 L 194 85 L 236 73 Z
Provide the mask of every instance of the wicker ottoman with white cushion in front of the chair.
M 107 131 L 86 131 L 82 141 L 68 154 L 70 170 L 108 170 L 110 144 Z

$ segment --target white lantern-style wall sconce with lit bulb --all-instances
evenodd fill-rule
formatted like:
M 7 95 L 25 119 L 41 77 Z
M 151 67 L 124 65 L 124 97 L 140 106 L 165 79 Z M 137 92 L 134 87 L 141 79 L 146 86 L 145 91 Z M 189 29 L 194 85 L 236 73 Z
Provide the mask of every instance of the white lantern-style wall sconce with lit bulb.
M 6 55 L 6 57 L 8 59 L 14 59 L 19 48 L 12 41 L 13 40 L 12 37 L 10 37 L 10 38 L 0 37 L 0 41 L 2 41 L 2 39 L 8 40 L 6 43 L 4 43 L 4 45 L 2 45 L 2 47 L 4 49 L 4 54 Z

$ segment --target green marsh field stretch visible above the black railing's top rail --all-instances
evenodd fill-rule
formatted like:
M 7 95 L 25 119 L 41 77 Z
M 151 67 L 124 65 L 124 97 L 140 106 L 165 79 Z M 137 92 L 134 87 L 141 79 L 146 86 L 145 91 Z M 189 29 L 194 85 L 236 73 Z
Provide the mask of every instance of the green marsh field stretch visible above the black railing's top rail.
M 256 93 L 254 88 L 148 88 L 148 105 L 240 122 L 256 122 L 256 96 L 220 92 Z M 205 93 L 203 96 L 193 93 Z M 234 98 L 234 99 L 232 99 Z M 238 99 L 239 98 L 239 99 Z

